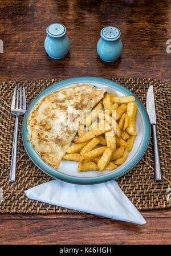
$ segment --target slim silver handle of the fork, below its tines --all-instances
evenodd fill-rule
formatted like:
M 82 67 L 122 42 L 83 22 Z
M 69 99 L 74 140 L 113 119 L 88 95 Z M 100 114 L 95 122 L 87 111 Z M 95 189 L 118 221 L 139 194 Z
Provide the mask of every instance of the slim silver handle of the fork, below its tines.
M 18 116 L 15 119 L 14 139 L 13 139 L 13 151 L 11 156 L 11 168 L 10 168 L 10 182 L 15 182 L 16 161 L 17 161 L 17 139 L 18 139 Z

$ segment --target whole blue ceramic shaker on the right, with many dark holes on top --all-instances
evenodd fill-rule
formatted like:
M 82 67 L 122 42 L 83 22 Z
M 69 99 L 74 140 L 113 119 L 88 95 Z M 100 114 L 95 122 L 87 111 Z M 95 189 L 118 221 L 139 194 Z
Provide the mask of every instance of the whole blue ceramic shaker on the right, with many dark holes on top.
M 121 32 L 117 27 L 104 27 L 97 42 L 97 54 L 105 62 L 115 62 L 121 55 L 123 44 L 120 40 Z

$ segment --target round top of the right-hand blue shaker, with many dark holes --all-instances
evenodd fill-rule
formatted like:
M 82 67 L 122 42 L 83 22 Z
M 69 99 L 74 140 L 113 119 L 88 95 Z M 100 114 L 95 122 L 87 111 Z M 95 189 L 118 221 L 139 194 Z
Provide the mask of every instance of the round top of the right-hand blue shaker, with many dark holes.
M 120 38 L 120 35 L 120 30 L 113 26 L 104 27 L 100 32 L 101 38 L 107 41 L 115 41 Z

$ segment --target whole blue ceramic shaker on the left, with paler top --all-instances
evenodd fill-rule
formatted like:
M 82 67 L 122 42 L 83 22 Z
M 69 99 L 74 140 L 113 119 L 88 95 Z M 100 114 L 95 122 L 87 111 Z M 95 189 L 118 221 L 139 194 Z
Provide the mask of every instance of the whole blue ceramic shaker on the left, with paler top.
M 66 32 L 66 27 L 59 23 L 54 23 L 47 27 L 44 48 L 51 58 L 62 59 L 70 50 L 70 39 Z

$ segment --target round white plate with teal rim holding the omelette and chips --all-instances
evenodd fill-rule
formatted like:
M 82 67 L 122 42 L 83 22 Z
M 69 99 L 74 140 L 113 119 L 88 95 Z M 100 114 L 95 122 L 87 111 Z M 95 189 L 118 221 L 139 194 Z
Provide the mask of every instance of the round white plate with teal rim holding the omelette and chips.
M 99 88 L 106 87 L 108 88 L 108 92 L 113 92 L 119 96 L 135 96 L 131 91 L 127 90 L 127 88 L 112 82 L 111 80 L 103 79 L 103 78 L 94 78 L 94 77 L 80 77 L 80 78 L 71 78 L 63 80 L 62 82 L 58 82 L 53 84 L 52 86 L 46 88 L 46 90 L 42 91 L 32 103 L 27 108 L 25 116 L 23 118 L 22 123 L 22 139 L 23 145 L 26 149 L 26 152 L 30 159 L 34 162 L 39 169 L 43 170 L 43 172 L 47 173 L 49 176 L 58 178 L 59 180 L 75 183 L 75 184 L 95 184 L 100 182 L 109 181 L 118 177 L 123 176 L 125 173 L 129 172 L 143 157 L 150 140 L 150 122 L 148 113 L 146 112 L 141 101 L 135 96 L 135 102 L 138 105 L 137 110 L 137 120 L 136 120 L 136 130 L 137 136 L 135 140 L 135 144 L 133 145 L 132 151 L 129 151 L 129 155 L 127 160 L 120 166 L 118 166 L 115 170 L 104 170 L 100 171 L 89 171 L 89 172 L 78 172 L 78 162 L 62 160 L 59 165 L 59 169 L 56 170 L 44 162 L 38 153 L 32 148 L 32 144 L 28 140 L 28 129 L 27 129 L 27 117 L 30 113 L 32 107 L 34 107 L 35 103 L 40 99 L 40 97 L 51 94 L 54 91 L 59 91 L 64 87 L 70 87 L 73 84 L 89 84 L 90 86 L 96 86 Z

